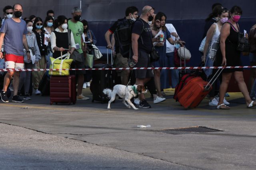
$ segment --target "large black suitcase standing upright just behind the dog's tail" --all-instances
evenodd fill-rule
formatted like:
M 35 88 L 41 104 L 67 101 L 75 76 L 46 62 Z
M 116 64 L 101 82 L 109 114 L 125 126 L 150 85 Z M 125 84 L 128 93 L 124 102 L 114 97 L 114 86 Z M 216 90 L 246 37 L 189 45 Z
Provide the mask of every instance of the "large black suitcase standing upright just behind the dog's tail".
M 113 68 L 110 64 L 95 64 L 93 68 Z M 115 85 L 116 70 L 93 70 L 90 90 L 92 92 L 92 102 L 94 100 L 107 103 L 108 97 L 103 94 L 103 89 L 112 89 Z

